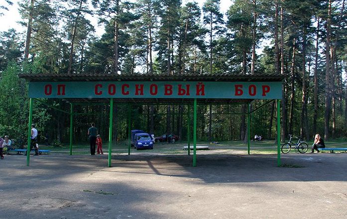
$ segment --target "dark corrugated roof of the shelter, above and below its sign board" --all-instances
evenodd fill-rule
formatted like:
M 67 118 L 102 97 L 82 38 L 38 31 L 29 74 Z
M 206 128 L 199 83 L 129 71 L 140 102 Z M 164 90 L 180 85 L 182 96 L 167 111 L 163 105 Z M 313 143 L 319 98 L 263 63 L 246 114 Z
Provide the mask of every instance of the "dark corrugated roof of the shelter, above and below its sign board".
M 30 82 L 73 82 L 73 81 L 202 81 L 202 82 L 281 82 L 285 75 L 281 74 L 110 74 L 110 73 L 24 73 L 19 75 Z M 243 104 L 254 98 L 199 98 L 199 104 Z M 74 103 L 109 103 L 109 98 L 64 98 Z M 114 98 L 115 103 L 132 104 L 191 104 L 193 98 Z

